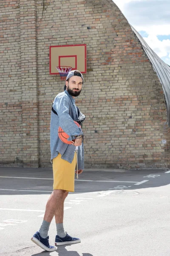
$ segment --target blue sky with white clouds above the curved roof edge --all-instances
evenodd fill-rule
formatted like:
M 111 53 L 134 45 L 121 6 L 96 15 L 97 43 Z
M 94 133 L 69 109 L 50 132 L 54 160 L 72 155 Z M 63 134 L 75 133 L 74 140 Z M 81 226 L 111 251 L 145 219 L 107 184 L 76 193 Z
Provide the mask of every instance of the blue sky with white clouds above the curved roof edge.
M 113 0 L 151 49 L 170 65 L 170 0 Z

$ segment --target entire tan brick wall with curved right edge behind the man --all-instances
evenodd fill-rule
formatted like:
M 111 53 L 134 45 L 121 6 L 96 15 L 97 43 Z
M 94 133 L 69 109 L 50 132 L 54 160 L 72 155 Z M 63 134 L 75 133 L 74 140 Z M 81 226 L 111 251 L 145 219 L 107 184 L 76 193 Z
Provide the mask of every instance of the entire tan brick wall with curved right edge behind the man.
M 59 76 L 49 75 L 49 46 L 87 44 L 85 84 L 77 98 L 77 105 L 86 115 L 85 166 L 169 166 L 169 129 L 162 87 L 118 7 L 111 0 L 46 0 L 44 8 L 42 2 L 37 0 L 35 6 L 35 1 L 24 0 L 20 1 L 20 9 L 14 9 L 10 1 L 3 8 L 5 14 L 9 9 L 12 15 L 18 15 L 14 21 L 18 22 L 20 34 L 15 39 L 16 33 L 10 28 L 18 47 L 18 69 L 15 66 L 14 77 L 8 77 L 9 73 L 3 76 L 3 86 L 8 87 L 8 91 L 3 89 L 5 120 L 12 122 L 6 111 L 11 111 L 13 105 L 7 105 L 6 99 L 9 90 L 14 90 L 14 79 L 20 84 L 20 99 L 16 92 L 12 93 L 17 105 L 15 124 L 7 132 L 5 123 L 2 124 L 3 148 L 9 148 L 4 150 L 1 162 L 14 163 L 18 157 L 24 166 L 51 166 L 51 103 L 64 83 Z M 9 22 L 5 19 L 4 27 Z M 5 29 L 3 36 L 5 41 Z M 8 47 L 13 49 L 10 56 L 14 59 L 15 47 L 9 39 Z M 8 50 L 3 56 L 8 62 Z M 15 130 L 18 139 L 13 136 Z M 6 138 L 15 147 L 10 156 Z

